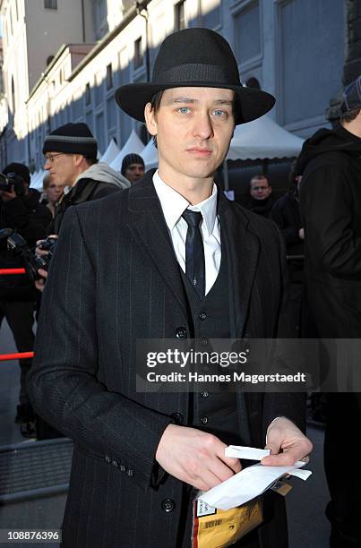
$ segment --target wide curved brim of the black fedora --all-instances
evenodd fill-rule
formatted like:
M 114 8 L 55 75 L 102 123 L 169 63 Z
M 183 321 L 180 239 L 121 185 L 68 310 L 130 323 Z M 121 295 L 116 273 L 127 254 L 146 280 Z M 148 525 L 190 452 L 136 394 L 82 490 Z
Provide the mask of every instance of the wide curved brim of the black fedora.
M 246 124 L 252 122 L 256 118 L 260 118 L 266 114 L 273 105 L 276 99 L 266 91 L 256 90 L 255 88 L 246 88 L 243 86 L 232 86 L 219 84 L 219 82 L 204 82 L 187 81 L 186 83 L 130 83 L 121 86 L 116 90 L 116 103 L 121 107 L 126 114 L 144 122 L 144 107 L 151 101 L 151 98 L 161 90 L 170 90 L 171 88 L 225 88 L 234 90 L 239 98 L 239 114 L 236 116 L 237 124 Z

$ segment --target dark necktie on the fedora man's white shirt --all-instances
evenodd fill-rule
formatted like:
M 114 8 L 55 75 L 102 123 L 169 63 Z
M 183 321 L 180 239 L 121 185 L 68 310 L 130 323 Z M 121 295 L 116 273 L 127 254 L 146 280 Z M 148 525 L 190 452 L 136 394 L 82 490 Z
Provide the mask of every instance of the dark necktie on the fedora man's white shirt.
M 185 239 L 185 276 L 202 299 L 205 294 L 204 248 L 200 229 L 202 213 L 185 210 L 182 217 L 188 225 Z

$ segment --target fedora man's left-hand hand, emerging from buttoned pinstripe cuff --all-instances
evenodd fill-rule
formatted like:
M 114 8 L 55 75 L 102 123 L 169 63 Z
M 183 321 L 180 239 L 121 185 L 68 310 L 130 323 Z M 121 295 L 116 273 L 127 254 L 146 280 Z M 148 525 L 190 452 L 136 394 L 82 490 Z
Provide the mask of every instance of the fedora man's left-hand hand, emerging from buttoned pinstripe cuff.
M 211 433 L 169 424 L 160 438 L 156 459 L 168 474 L 208 491 L 241 471 L 238 458 L 225 457 L 226 447 Z

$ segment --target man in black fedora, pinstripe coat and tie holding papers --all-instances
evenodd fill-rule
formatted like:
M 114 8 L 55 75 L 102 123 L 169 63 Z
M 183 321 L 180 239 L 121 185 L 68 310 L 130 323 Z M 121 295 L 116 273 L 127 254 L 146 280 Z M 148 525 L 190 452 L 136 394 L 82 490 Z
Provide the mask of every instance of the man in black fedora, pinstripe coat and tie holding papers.
M 213 182 L 235 124 L 262 116 L 274 99 L 241 86 L 219 34 L 189 29 L 165 39 L 150 83 L 121 87 L 116 101 L 145 119 L 159 169 L 66 213 L 63 234 L 72 237 L 60 235 L 51 265 L 31 393 L 74 440 L 64 546 L 186 547 L 195 491 L 241 469 L 225 457 L 230 442 L 264 447 L 267 434 L 270 465 L 293 464 L 312 447 L 301 396 L 135 386 L 137 339 L 207 346 L 276 333 L 279 233 Z M 268 493 L 264 509 L 262 526 L 237 545 L 287 546 L 279 495 Z

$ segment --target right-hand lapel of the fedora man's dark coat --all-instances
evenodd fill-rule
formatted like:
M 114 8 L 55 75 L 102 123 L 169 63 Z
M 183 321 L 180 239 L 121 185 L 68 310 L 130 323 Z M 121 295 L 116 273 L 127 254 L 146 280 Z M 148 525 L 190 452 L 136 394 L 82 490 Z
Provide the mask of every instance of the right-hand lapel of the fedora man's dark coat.
M 244 336 L 260 244 L 248 227 L 248 218 L 219 191 L 219 222 L 222 248 L 228 257 L 231 336 Z

